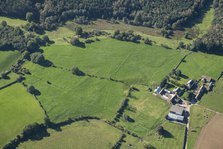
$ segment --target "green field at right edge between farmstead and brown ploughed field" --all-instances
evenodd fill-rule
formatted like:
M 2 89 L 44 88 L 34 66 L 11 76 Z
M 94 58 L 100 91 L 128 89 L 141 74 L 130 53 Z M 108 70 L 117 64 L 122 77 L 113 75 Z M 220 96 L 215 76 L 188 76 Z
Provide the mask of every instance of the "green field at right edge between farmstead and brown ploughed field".
M 200 104 L 217 112 L 223 113 L 222 89 L 223 89 L 223 79 L 221 78 L 216 83 L 216 87 L 214 87 L 214 90 L 202 98 Z

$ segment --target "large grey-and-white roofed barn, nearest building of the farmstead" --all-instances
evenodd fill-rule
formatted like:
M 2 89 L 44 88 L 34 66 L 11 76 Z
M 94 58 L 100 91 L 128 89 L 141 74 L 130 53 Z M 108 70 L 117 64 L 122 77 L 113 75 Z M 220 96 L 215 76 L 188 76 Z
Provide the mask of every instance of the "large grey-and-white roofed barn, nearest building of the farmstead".
M 167 118 L 172 121 L 184 122 L 185 120 L 185 110 L 179 105 L 173 105 L 170 108 L 170 112 L 167 115 Z

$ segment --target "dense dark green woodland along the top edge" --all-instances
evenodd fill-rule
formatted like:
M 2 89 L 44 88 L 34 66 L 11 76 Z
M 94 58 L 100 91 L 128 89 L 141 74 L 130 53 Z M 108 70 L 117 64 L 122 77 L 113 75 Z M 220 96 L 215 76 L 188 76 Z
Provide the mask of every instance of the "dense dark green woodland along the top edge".
M 180 25 L 210 0 L 2 0 L 0 13 L 33 20 L 45 29 L 70 19 L 118 19 L 133 25 L 165 27 Z M 19 12 L 19 13 L 18 13 Z

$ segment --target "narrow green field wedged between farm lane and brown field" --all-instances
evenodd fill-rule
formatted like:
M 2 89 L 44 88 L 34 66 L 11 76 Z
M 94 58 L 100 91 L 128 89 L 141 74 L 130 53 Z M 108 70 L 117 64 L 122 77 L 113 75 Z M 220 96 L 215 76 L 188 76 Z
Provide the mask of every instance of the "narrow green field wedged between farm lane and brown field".
M 214 112 L 211 112 L 200 106 L 192 106 L 190 112 L 190 128 L 188 131 L 188 149 L 194 149 L 195 143 L 199 137 L 202 128 L 210 121 L 214 116 Z

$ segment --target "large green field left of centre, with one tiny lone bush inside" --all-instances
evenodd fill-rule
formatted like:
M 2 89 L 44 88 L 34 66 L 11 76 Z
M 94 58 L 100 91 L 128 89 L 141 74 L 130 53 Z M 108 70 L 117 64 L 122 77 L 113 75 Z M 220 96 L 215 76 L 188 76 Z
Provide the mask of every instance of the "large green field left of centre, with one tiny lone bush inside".
M 77 77 L 59 68 L 44 68 L 32 63 L 25 67 L 33 74 L 27 76 L 25 82 L 41 92 L 38 98 L 54 122 L 80 115 L 112 119 L 127 89 L 121 83 Z

